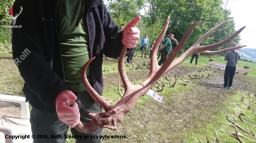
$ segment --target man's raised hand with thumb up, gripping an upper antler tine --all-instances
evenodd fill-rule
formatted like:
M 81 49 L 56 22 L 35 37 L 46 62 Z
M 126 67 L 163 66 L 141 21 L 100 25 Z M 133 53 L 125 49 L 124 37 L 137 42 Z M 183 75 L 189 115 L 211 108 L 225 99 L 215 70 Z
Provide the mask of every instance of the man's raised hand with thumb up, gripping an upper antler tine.
M 127 48 L 135 48 L 138 40 L 140 39 L 140 30 L 134 27 L 141 21 L 141 17 L 134 18 L 123 30 L 122 44 L 126 45 Z

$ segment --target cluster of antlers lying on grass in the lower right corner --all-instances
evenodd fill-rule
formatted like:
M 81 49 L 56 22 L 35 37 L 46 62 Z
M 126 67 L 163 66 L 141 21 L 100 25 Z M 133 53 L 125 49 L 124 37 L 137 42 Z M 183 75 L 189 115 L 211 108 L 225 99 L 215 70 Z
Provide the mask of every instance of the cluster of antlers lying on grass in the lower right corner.
M 253 114 L 255 115 L 255 117 L 256 117 L 256 111 L 255 111 L 255 109 L 253 108 L 253 106 L 249 105 L 250 103 L 255 103 L 254 101 L 252 101 L 252 97 L 256 99 L 256 94 L 255 94 L 255 93 L 250 93 L 250 92 L 244 92 L 244 91 L 240 91 L 240 94 L 241 94 L 241 96 L 240 96 L 240 95 L 239 95 L 239 96 L 241 97 L 241 100 L 242 100 L 242 101 L 245 101 L 247 106 L 244 107 L 244 106 L 242 106 L 242 105 L 239 104 L 239 103 L 236 103 L 236 105 L 238 105 L 238 106 L 240 106 L 240 107 L 242 107 L 242 108 L 244 108 L 244 109 L 252 110 L 252 113 L 253 113 Z M 246 98 L 245 98 L 245 95 L 244 95 L 244 94 L 249 95 L 249 99 L 247 99 L 247 101 L 246 101 Z M 248 103 L 248 102 L 249 102 L 249 103 Z M 239 112 L 239 115 L 236 115 L 236 112 L 237 112 L 237 111 Z M 247 123 L 246 120 L 245 120 L 244 118 L 242 118 L 241 116 L 244 116 L 244 117 L 247 117 L 247 118 L 250 118 L 250 117 L 248 117 L 246 114 L 244 114 L 244 113 L 243 113 L 243 110 L 240 109 L 240 108 L 234 108 L 234 109 L 233 109 L 233 115 L 234 115 L 234 120 L 235 120 L 235 122 L 229 119 L 227 112 L 226 112 L 226 119 L 225 119 L 225 120 L 229 121 L 229 123 L 235 128 L 235 132 L 229 131 L 228 129 L 227 129 L 227 132 L 226 132 L 226 131 L 222 131 L 222 130 L 221 130 L 221 131 L 222 131 L 222 132 L 225 132 L 225 133 L 228 133 L 229 136 L 234 137 L 239 143 L 243 143 L 243 141 L 241 140 L 240 137 L 243 137 L 244 139 L 247 139 L 247 140 L 249 140 L 249 141 L 251 141 L 251 142 L 256 143 L 256 134 L 255 134 L 255 132 L 252 130 L 252 128 L 250 128 L 251 132 L 249 131 L 248 128 L 245 130 L 245 129 L 243 129 L 243 128 L 237 123 L 237 120 L 236 120 L 236 118 L 239 118 L 242 122 Z M 250 119 L 256 119 L 256 118 L 250 118 Z M 253 125 L 253 127 L 256 127 L 256 125 Z M 238 129 L 240 129 L 241 131 L 243 131 L 244 133 L 246 133 L 246 134 L 248 134 L 248 135 L 247 135 L 247 136 L 244 136 L 242 133 L 240 133 L 240 132 L 238 131 Z M 215 131 L 215 130 L 214 130 L 214 131 Z M 216 136 L 216 142 L 215 142 L 215 143 L 220 143 L 219 137 L 218 137 L 216 131 L 215 131 L 215 136 Z M 249 136 L 253 136 L 254 139 L 250 139 Z M 207 143 L 210 143 L 207 134 L 206 134 L 206 138 L 207 138 Z M 200 142 L 200 143 L 202 143 L 202 142 Z

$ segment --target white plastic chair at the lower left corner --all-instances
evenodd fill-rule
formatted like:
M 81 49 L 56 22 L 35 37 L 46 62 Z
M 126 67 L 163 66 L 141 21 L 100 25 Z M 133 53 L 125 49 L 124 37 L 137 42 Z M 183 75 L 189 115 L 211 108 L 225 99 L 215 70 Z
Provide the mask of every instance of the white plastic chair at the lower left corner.
M 0 143 L 33 143 L 31 125 L 29 122 L 28 103 L 25 102 L 25 97 L 0 94 L 0 101 L 16 102 L 21 105 L 21 118 L 9 117 L 3 115 L 0 118 L 0 132 L 4 133 L 4 137 L 0 136 Z M 24 135 L 29 135 L 30 138 L 22 139 Z M 20 136 L 19 139 L 6 137 Z

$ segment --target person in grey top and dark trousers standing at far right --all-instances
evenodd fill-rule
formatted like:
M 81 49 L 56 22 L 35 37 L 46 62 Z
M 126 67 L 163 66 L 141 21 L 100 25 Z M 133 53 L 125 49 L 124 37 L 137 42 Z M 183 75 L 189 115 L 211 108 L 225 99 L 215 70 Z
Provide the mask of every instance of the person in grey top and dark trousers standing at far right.
M 231 47 L 236 47 L 236 43 L 232 43 Z M 231 89 L 233 79 L 236 73 L 237 61 L 240 60 L 240 52 L 237 50 L 231 50 L 226 53 L 225 61 L 227 65 L 224 72 L 224 88 Z

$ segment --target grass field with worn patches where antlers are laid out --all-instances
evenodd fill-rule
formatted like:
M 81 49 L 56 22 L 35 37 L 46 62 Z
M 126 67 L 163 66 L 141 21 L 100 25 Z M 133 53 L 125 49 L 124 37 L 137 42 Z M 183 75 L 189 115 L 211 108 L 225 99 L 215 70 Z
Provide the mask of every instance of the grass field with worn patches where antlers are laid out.
M 205 68 L 204 65 L 209 62 L 209 58 L 215 59 L 215 62 L 226 63 L 223 57 L 219 56 L 200 56 L 198 66 L 189 65 L 190 57 L 182 64 L 170 71 L 173 76 L 174 71 L 183 71 L 187 80 L 190 80 L 188 73 L 194 73 L 195 70 Z M 148 58 L 135 58 L 135 62 L 148 62 Z M 112 70 L 112 65 L 117 68 L 117 60 L 103 59 L 102 67 L 110 71 L 103 72 L 104 92 L 103 96 L 111 99 L 118 99 L 118 81 L 120 75 L 117 70 Z M 248 75 L 236 74 L 232 89 L 219 88 L 223 84 L 224 71 L 216 70 L 214 75 L 209 78 L 200 80 L 190 80 L 194 83 L 182 86 L 176 84 L 174 88 L 164 87 L 160 92 L 163 96 L 162 103 L 151 99 L 145 95 L 141 97 L 124 117 L 122 123 L 118 124 L 118 130 L 103 130 L 103 135 L 126 135 L 126 139 L 103 139 L 102 143 L 200 143 L 206 142 L 206 134 L 210 142 L 215 142 L 216 130 L 220 143 L 237 143 L 236 139 L 230 137 L 228 133 L 222 131 L 235 131 L 234 127 L 229 124 L 226 118 L 226 112 L 229 119 L 234 121 L 233 110 L 238 115 L 241 109 L 248 117 L 242 118 L 247 122 L 244 123 L 237 118 L 237 122 L 244 129 L 255 129 L 256 115 L 252 110 L 247 109 L 251 105 L 256 109 L 256 105 L 249 102 L 250 93 L 256 92 L 256 63 L 239 61 L 238 67 L 247 66 L 251 70 Z M 126 73 L 130 81 L 146 79 L 149 69 L 130 70 L 126 66 Z M 0 93 L 24 96 L 22 87 L 23 79 L 20 77 L 17 66 L 14 64 L 12 55 L 0 52 Z M 113 78 L 114 77 L 114 78 Z M 242 101 L 240 92 L 245 97 Z M 238 106 L 239 103 L 241 106 Z M 239 130 L 244 136 L 254 139 Z M 71 134 L 68 132 L 68 134 Z M 251 143 L 247 139 L 240 137 L 244 143 Z M 75 143 L 73 139 L 68 139 L 66 143 Z

